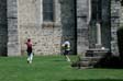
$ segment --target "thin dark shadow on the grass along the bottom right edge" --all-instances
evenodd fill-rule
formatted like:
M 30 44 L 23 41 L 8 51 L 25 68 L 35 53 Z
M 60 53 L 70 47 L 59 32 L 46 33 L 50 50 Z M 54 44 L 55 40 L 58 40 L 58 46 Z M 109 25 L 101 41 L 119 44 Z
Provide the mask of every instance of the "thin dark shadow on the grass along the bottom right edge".
M 123 81 L 123 79 L 89 79 L 89 80 L 60 80 L 60 81 Z

